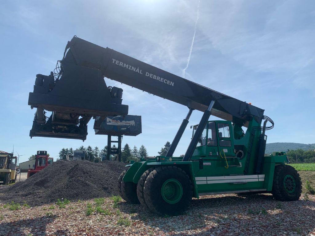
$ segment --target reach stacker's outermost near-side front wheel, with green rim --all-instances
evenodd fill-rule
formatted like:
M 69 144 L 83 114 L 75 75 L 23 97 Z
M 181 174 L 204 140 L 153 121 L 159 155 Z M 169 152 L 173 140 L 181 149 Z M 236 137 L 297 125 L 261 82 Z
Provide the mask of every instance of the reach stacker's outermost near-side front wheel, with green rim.
M 146 178 L 144 199 L 148 208 L 158 215 L 180 215 L 192 201 L 192 182 L 182 169 L 160 166 Z

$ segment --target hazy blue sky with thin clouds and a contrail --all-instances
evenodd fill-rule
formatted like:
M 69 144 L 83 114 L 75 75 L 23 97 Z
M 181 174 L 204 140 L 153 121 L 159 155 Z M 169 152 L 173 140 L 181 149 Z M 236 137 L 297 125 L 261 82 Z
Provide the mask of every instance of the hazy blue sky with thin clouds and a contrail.
M 0 150 L 26 161 L 37 150 L 56 159 L 62 148 L 107 145 L 93 120 L 81 140 L 30 139 L 28 106 L 36 74 L 49 75 L 74 35 L 154 65 L 265 110 L 275 122 L 267 143 L 315 143 L 315 2 L 309 1 L 1 1 Z M 172 142 L 187 107 L 105 78 L 123 88 L 142 133 L 122 145 L 150 156 Z M 198 124 L 193 111 L 175 156 Z M 210 117 L 210 120 L 217 120 Z M 114 140 L 114 138 L 113 138 Z

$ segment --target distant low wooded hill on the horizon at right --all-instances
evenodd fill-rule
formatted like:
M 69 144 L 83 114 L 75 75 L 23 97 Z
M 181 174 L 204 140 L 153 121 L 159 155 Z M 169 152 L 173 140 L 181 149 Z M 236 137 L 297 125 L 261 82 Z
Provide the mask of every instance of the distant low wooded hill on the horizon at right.
M 289 150 L 309 150 L 315 149 L 315 143 L 305 144 L 305 143 L 267 143 L 266 144 L 266 154 L 271 154 L 273 152 L 286 152 Z

